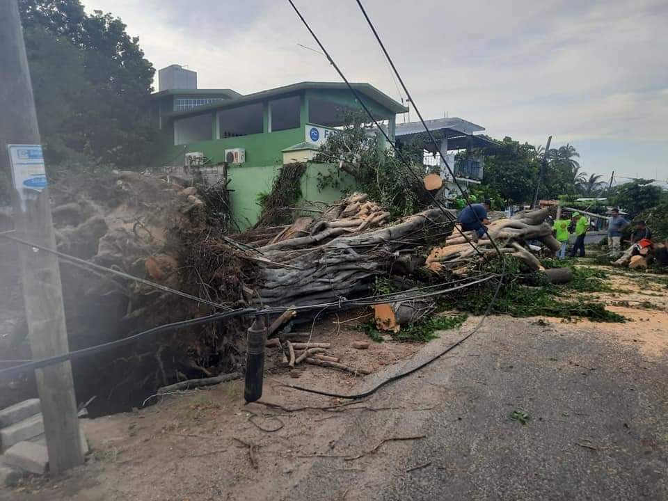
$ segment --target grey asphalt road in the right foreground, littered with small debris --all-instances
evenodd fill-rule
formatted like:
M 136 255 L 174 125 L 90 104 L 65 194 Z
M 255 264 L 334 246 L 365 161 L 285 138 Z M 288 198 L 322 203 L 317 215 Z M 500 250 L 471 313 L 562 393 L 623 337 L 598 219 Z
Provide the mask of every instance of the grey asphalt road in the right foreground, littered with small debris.
M 358 413 L 331 456 L 267 499 L 666 500 L 668 360 L 605 331 L 489 319 L 448 358 L 376 394 L 380 410 Z M 371 452 L 409 436 L 424 438 Z

